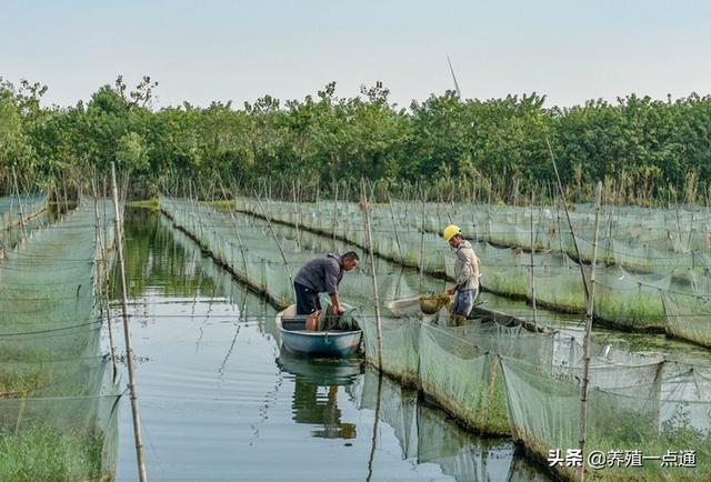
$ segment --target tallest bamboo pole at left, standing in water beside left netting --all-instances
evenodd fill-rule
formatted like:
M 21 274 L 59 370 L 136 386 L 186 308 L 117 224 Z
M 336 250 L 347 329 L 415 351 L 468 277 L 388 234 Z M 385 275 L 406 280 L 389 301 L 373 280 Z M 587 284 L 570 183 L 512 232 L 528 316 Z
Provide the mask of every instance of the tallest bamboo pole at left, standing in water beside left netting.
M 138 408 L 138 390 L 136 388 L 136 372 L 133 368 L 133 343 L 129 327 L 128 289 L 126 285 L 126 264 L 123 259 L 123 231 L 122 219 L 119 209 L 119 192 L 116 183 L 116 165 L 111 163 L 111 187 L 113 191 L 113 212 L 116 215 L 116 247 L 119 255 L 119 273 L 121 275 L 121 314 L 123 315 L 123 337 L 126 341 L 126 363 L 129 370 L 129 389 L 131 391 L 131 414 L 133 415 L 133 438 L 136 442 L 136 456 L 138 460 L 138 476 L 140 482 L 146 482 L 146 461 L 143 459 L 143 438 L 141 434 L 141 416 Z

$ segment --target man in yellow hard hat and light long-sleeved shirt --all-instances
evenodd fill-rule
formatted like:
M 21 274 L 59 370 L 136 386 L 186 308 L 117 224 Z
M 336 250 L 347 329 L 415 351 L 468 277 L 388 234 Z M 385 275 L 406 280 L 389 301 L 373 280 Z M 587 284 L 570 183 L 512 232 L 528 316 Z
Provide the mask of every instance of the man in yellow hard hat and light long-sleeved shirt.
M 454 285 L 447 290 L 449 294 L 457 294 L 454 307 L 452 308 L 452 319 L 455 324 L 462 324 L 469 317 L 474 300 L 479 294 L 479 258 L 474 253 L 471 243 L 462 238 L 462 230 L 455 224 L 444 228 L 444 241 L 457 253 L 454 263 Z

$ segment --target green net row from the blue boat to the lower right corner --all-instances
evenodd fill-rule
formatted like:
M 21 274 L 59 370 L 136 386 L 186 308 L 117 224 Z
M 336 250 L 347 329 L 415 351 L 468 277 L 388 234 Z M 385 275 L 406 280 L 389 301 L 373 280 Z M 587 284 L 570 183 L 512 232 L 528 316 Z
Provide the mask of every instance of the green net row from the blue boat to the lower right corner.
M 361 323 L 368 360 L 378 365 L 377 327 Z M 711 369 L 593 347 L 585 455 L 639 452 L 675 456 L 628 466 L 622 459 L 604 480 L 700 480 L 711 474 Z M 417 386 L 473 430 L 511 434 L 541 462 L 551 451 L 577 449 L 582 348 L 560 334 L 531 333 L 494 322 L 459 328 L 412 318 L 382 320 L 382 370 Z M 611 455 L 613 453 L 615 455 Z M 679 466 L 693 452 L 693 468 Z M 683 455 L 683 454 L 687 455 Z M 689 462 L 689 460 L 687 460 Z M 574 479 L 563 461 L 553 470 Z

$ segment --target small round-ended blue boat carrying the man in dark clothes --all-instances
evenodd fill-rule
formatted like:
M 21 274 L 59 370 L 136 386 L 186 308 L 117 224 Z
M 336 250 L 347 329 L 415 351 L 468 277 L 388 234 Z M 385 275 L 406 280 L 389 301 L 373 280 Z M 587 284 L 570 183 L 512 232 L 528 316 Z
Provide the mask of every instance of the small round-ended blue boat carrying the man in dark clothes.
M 277 328 L 287 350 L 301 357 L 348 357 L 360 348 L 362 330 L 307 331 L 307 317 L 291 304 L 277 314 Z

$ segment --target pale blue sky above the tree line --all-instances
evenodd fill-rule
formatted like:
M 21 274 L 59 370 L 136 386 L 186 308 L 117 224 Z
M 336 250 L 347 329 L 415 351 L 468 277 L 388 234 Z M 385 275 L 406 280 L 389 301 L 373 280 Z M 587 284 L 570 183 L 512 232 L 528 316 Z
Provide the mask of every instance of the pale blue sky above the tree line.
M 407 107 L 537 91 L 548 106 L 630 92 L 711 92 L 711 2 L 2 1 L 0 76 L 47 83 L 48 102 L 87 99 L 122 73 L 160 82 L 158 107 L 241 106 L 338 82 L 382 80 Z

